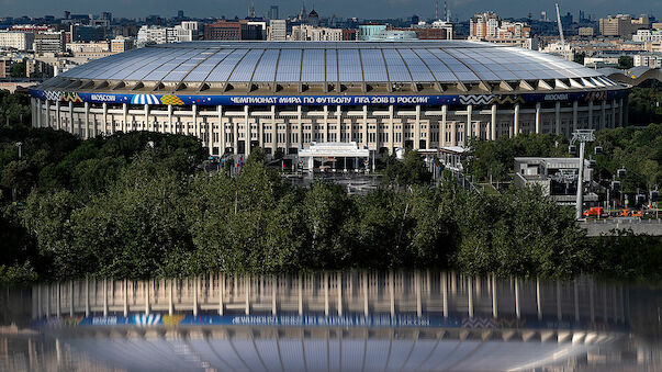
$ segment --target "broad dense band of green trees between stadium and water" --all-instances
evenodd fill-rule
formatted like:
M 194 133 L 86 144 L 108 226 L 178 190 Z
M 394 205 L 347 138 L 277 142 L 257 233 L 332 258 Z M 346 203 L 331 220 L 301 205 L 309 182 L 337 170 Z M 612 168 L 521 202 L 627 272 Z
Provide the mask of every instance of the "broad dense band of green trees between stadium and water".
M 10 154 L 16 136 L 21 159 Z M 322 181 L 290 187 L 260 150 L 236 177 L 206 173 L 193 137 L 135 132 L 80 142 L 2 128 L 0 138 L 4 280 L 347 268 L 568 277 L 622 258 L 616 248 L 601 252 L 572 211 L 536 190 L 479 195 L 451 180 L 430 185 L 415 153 L 390 166 L 382 189 L 348 195 Z M 648 266 L 626 270 L 632 261 L 619 261 L 624 273 L 650 277 L 662 252 L 659 240 L 649 246 Z

